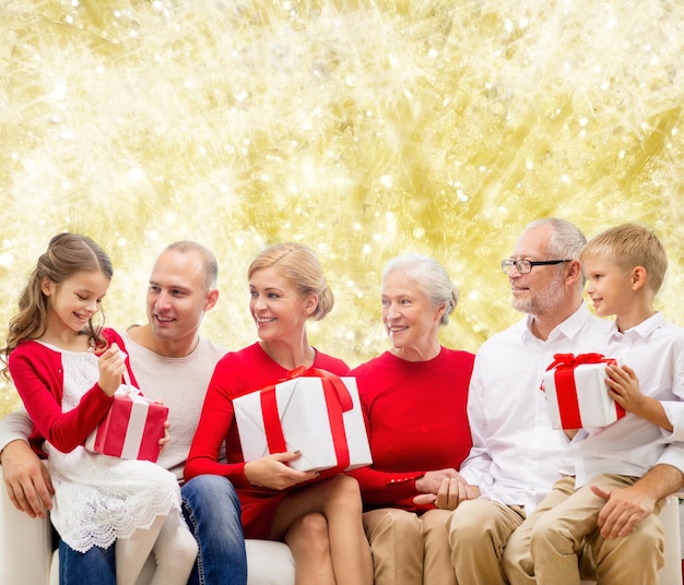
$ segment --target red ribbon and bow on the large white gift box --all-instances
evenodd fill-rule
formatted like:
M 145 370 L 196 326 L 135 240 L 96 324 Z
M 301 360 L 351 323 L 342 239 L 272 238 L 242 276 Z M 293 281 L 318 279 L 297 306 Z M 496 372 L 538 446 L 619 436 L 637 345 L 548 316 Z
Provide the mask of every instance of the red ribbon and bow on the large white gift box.
M 305 368 L 304 366 L 287 372 L 287 378 L 261 390 L 261 414 L 263 428 L 270 453 L 283 453 L 287 451 L 283 426 L 278 414 L 278 399 L 275 386 L 281 382 L 296 378 L 320 378 L 326 397 L 326 407 L 330 421 L 332 442 L 338 459 L 337 467 L 345 469 L 350 465 L 350 452 L 346 443 L 343 413 L 353 408 L 352 396 L 344 382 L 333 373 L 318 368 Z

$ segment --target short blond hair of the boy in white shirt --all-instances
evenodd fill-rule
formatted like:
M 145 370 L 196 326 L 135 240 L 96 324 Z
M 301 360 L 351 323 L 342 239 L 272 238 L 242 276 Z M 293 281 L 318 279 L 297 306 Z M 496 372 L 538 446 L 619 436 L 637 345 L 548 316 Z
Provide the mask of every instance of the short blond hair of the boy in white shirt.
M 647 284 L 653 294 L 660 289 L 668 270 L 668 255 L 656 234 L 636 224 L 622 224 L 591 238 L 579 260 L 598 255 L 610 258 L 625 272 L 636 266 L 646 268 Z

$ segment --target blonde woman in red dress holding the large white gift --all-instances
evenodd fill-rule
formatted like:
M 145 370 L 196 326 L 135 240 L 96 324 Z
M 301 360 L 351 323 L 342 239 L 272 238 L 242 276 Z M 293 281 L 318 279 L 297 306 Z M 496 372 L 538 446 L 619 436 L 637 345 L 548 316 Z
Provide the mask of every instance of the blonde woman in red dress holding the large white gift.
M 361 493 L 355 479 L 337 475 L 321 481 L 316 471 L 286 465 L 296 453 L 275 453 L 245 463 L 234 423 L 233 397 L 283 379 L 299 366 L 345 375 L 347 366 L 308 343 L 306 322 L 332 309 L 318 259 L 302 244 L 267 248 L 248 270 L 249 308 L 260 343 L 219 361 L 185 476 L 227 477 L 236 487 L 248 538 L 283 540 L 295 559 L 295 582 L 370 585 L 373 562 L 363 530 Z M 225 441 L 228 463 L 219 462 Z

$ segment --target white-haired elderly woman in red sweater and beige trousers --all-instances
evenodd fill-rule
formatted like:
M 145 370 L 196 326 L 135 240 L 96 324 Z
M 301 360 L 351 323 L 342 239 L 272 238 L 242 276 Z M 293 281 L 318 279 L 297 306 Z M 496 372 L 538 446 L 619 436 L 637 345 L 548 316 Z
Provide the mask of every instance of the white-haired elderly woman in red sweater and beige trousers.
M 450 511 L 426 502 L 443 480 L 458 478 L 471 447 L 465 406 L 474 356 L 444 347 L 438 336 L 458 291 L 437 261 L 406 254 L 387 263 L 381 296 L 392 347 L 352 371 L 374 463 L 351 475 L 364 500 L 375 583 L 456 585 L 444 526 Z

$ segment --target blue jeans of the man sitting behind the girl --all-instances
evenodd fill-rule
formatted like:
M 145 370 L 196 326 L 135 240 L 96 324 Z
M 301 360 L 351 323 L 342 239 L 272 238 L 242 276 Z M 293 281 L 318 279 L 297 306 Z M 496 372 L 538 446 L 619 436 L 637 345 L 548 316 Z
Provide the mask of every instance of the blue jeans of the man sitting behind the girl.
M 180 496 L 182 514 L 199 544 L 188 585 L 245 585 L 247 553 L 233 483 L 222 476 L 199 476 L 182 486 Z M 60 541 L 60 585 L 116 585 L 114 549 L 93 547 L 81 553 Z

